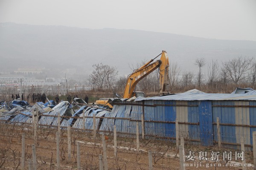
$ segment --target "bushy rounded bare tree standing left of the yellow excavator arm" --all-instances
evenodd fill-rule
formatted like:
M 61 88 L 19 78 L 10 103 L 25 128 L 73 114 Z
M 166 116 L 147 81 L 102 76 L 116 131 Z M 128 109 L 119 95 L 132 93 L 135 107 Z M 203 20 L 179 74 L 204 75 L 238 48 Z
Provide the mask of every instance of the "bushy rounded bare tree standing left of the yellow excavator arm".
M 116 79 L 118 71 L 116 68 L 111 67 L 109 65 L 94 64 L 93 65 L 93 73 L 90 74 L 89 84 L 93 87 L 104 89 L 110 89 L 113 87 L 113 82 Z

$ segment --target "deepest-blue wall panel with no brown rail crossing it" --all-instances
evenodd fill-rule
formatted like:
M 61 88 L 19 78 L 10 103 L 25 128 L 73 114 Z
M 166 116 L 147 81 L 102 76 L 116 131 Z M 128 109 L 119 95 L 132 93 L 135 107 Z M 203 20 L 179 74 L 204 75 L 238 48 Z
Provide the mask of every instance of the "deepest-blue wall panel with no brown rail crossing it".
M 199 102 L 200 141 L 202 145 L 212 144 L 212 102 Z

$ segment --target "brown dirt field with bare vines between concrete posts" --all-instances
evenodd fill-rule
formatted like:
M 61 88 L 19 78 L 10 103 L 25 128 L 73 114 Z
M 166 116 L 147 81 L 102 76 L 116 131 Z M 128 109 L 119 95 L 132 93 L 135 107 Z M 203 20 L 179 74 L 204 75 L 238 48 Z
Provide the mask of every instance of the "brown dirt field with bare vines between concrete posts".
M 38 170 L 56 170 L 56 129 L 39 128 L 37 133 L 36 156 Z M 0 123 L 0 169 L 20 170 L 21 169 L 21 139 L 25 133 L 25 169 L 28 169 L 28 160 L 32 159 L 32 144 L 34 144 L 33 130 L 30 127 L 21 125 L 8 125 Z M 67 130 L 61 130 L 60 142 L 60 164 L 61 170 L 77 169 L 76 142 L 80 142 L 81 169 L 99 170 L 99 154 L 103 154 L 101 135 L 98 134 L 96 141 L 90 132 L 71 130 L 72 146 L 71 160 L 68 160 L 67 153 Z M 140 139 L 140 152 L 136 151 L 136 139 L 131 137 L 117 137 L 117 158 L 114 156 L 113 136 L 107 135 L 107 157 L 108 170 L 148 170 L 148 150 L 152 150 L 152 162 L 154 170 L 180 170 L 179 154 L 176 144 L 169 141 L 159 141 L 153 139 Z M 241 170 L 237 164 L 222 160 L 209 161 L 209 154 L 213 151 L 232 151 L 218 147 L 202 147 L 198 145 L 185 144 L 185 155 L 189 150 L 195 152 L 207 152 L 208 160 L 199 161 L 195 157 L 194 161 L 186 161 L 186 170 Z M 246 152 L 247 163 L 253 162 L 253 154 Z M 234 155 L 233 155 L 234 156 Z M 234 158 L 233 158 L 234 159 Z M 239 160 L 241 162 L 241 160 Z M 200 163 L 201 162 L 201 163 Z M 247 170 L 253 169 L 247 167 Z

